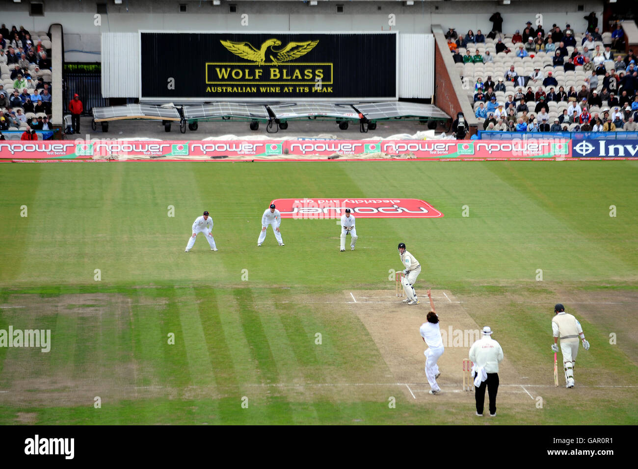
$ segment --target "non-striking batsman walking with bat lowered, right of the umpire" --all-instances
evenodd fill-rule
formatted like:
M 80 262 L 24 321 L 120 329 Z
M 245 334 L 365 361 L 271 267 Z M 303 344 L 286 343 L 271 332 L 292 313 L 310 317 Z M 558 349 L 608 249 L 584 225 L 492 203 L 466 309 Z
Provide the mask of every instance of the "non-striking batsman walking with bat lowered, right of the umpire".
M 552 332 L 554 335 L 552 352 L 558 352 L 558 338 L 560 338 L 565 382 L 567 382 L 566 387 L 574 387 L 574 367 L 576 365 L 576 356 L 578 355 L 578 339 L 579 337 L 581 338 L 582 348 L 585 350 L 590 350 L 590 343 L 585 340 L 581 323 L 573 315 L 565 313 L 565 307 L 560 303 L 554 306 Z

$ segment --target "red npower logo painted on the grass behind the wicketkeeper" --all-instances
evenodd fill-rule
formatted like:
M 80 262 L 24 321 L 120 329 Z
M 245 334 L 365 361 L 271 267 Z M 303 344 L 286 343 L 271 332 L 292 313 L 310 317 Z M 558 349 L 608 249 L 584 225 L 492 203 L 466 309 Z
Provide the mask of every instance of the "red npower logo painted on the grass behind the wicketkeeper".
M 341 218 L 350 209 L 356 218 L 441 218 L 443 214 L 418 198 L 278 198 L 281 218 Z

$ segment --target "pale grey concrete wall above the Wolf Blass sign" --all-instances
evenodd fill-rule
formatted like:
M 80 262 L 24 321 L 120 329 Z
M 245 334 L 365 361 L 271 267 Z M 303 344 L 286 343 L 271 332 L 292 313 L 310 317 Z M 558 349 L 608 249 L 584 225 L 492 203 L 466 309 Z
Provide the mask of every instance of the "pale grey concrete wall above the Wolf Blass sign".
M 602 0 L 519 1 L 510 5 L 493 1 L 426 1 L 415 0 L 413 6 L 399 1 L 323 1 L 308 6 L 302 1 L 211 1 L 189 0 L 124 0 L 115 5 L 107 3 L 108 14 L 102 15 L 96 26 L 96 0 L 45 1 L 45 15 L 30 17 L 26 1 L 13 3 L 0 0 L 0 21 L 9 29 L 23 25 L 29 31 L 47 31 L 53 23 L 64 27 L 65 58 L 68 62 L 99 62 L 102 32 L 137 32 L 138 29 L 168 31 L 402 31 L 430 33 L 433 24 L 456 27 L 459 33 L 468 29 L 491 29 L 489 17 L 494 11 L 503 16 L 505 32 L 523 30 L 526 21 L 536 22 L 537 16 L 545 27 L 553 23 L 564 27 L 570 23 L 576 31 L 584 31 L 583 19 L 590 11 L 602 18 Z M 187 13 L 179 13 L 179 4 L 188 6 Z M 237 13 L 230 13 L 229 3 L 237 4 Z M 343 4 L 344 13 L 336 13 L 336 4 Z M 577 6 L 584 11 L 577 11 Z M 127 8 L 128 5 L 128 8 Z M 248 25 L 242 25 L 242 14 L 248 15 Z M 389 15 L 395 15 L 395 26 L 389 25 Z M 452 24 L 453 23 L 453 24 Z

